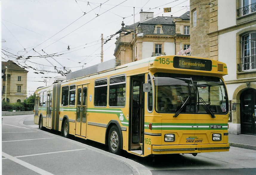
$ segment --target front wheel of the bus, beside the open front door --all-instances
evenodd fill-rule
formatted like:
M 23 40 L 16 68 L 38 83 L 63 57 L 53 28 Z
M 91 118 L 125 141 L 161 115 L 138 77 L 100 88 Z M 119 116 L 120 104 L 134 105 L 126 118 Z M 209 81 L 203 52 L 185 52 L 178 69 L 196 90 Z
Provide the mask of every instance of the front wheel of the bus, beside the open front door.
M 108 148 L 113 154 L 121 153 L 121 134 L 117 126 L 111 126 L 108 134 Z

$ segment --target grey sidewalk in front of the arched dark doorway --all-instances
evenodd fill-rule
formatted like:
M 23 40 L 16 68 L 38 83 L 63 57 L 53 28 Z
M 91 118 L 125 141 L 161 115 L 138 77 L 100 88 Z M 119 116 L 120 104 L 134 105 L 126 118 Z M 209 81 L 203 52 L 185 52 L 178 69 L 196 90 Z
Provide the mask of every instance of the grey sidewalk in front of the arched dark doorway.
M 229 134 L 229 146 L 256 150 L 256 135 Z

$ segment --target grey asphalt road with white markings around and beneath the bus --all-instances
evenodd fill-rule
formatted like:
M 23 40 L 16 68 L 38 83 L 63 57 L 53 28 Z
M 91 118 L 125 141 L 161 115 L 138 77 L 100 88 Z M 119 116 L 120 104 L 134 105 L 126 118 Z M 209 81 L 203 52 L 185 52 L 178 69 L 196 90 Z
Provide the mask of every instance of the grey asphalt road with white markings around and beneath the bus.
M 229 152 L 138 157 L 117 156 L 103 144 L 60 132 L 41 131 L 33 115 L 4 116 L 3 174 L 256 174 L 256 151 L 231 147 Z

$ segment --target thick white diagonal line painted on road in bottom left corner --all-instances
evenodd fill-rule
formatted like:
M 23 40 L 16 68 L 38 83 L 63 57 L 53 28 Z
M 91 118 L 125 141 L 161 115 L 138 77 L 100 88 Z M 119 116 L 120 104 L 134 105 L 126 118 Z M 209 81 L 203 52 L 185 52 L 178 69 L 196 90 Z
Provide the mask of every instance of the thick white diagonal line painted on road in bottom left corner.
M 49 174 L 49 175 L 51 174 L 48 171 L 45 171 L 45 170 L 43 170 L 41 168 L 38 168 L 38 167 L 36 167 L 34 165 L 31 165 L 30 163 L 24 162 L 23 160 L 17 159 L 16 157 L 13 157 L 13 156 L 11 156 L 9 154 L 6 154 L 4 152 L 2 152 L 2 155 L 4 157 L 6 157 L 7 159 L 12 160 L 13 162 L 16 162 L 16 163 L 18 163 L 18 164 L 20 164 L 20 165 L 22 165 L 22 166 L 24 166 L 26 168 L 29 168 L 32 171 L 35 171 L 36 173 L 39 173 L 39 174 Z M 51 175 L 53 175 L 53 174 L 51 174 Z

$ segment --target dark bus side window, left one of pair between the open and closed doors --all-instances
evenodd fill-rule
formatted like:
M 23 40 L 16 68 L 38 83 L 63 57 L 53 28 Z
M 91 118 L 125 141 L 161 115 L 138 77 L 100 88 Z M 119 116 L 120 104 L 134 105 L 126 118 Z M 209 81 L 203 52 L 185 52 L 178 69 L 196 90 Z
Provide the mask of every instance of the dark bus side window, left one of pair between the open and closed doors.
M 94 106 L 107 106 L 107 79 L 95 81 Z

